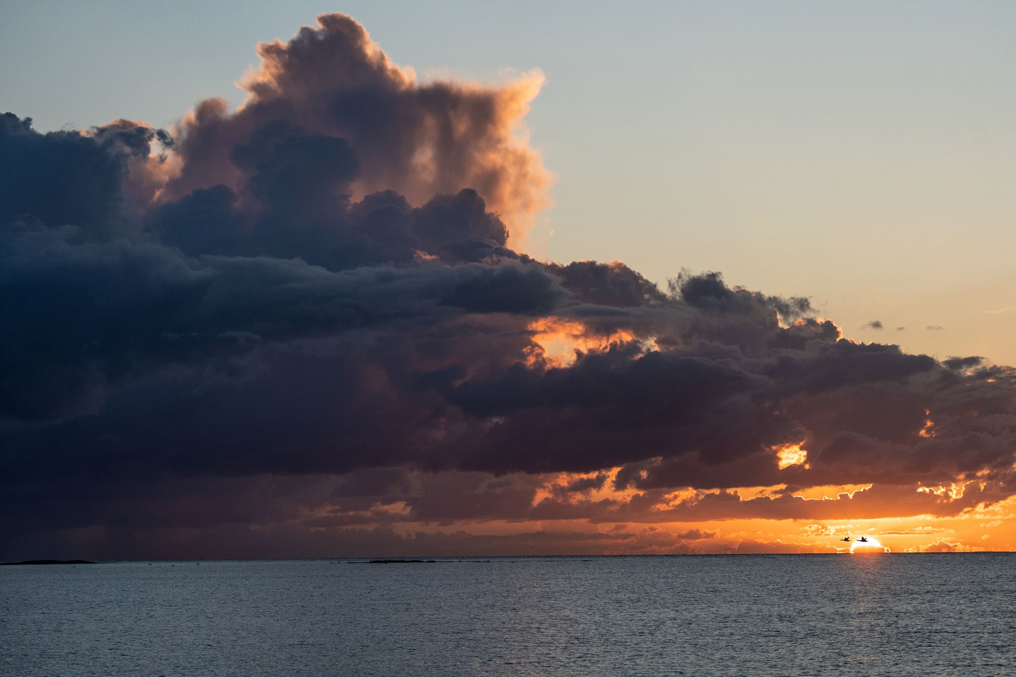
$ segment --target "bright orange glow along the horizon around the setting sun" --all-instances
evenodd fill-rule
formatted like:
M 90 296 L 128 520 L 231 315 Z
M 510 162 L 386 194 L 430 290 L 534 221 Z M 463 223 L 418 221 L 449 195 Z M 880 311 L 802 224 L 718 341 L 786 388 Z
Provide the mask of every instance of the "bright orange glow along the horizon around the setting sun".
M 620 468 L 611 468 L 599 472 L 543 476 L 532 506 L 550 519 L 513 522 L 514 528 L 523 532 L 593 529 L 602 536 L 619 539 L 617 542 L 605 541 L 605 552 L 612 553 L 670 552 L 674 546 L 668 545 L 663 537 L 693 531 L 713 534 L 708 539 L 687 545 L 693 552 L 702 553 L 971 552 L 1012 550 L 1016 544 L 1016 524 L 1010 520 L 1016 499 L 987 507 L 973 504 L 957 509 L 957 513 L 951 516 L 933 514 L 937 510 L 948 513 L 948 505 L 963 497 L 964 488 L 968 493 L 971 490 L 968 485 L 976 484 L 975 480 L 944 486 L 899 487 L 888 493 L 873 484 L 813 486 L 795 489 L 790 493 L 786 491 L 786 485 L 734 487 L 722 491 L 633 487 L 619 491 L 614 488 L 619 471 Z M 570 485 L 593 478 L 600 479 L 600 483 L 595 486 L 590 484 L 585 489 L 566 490 Z M 925 494 L 928 500 L 910 501 L 906 494 L 914 488 L 917 495 Z M 871 496 L 868 496 L 869 492 L 873 492 Z M 760 511 L 758 517 L 750 515 L 752 509 L 746 511 L 748 515 L 743 518 L 735 517 L 737 512 L 724 515 L 722 509 L 710 517 L 710 512 L 716 506 L 731 504 L 727 499 L 715 498 L 721 494 L 736 496 L 738 502 L 760 501 L 755 503 Z M 787 502 L 791 496 L 814 504 L 791 504 Z M 550 517 L 557 512 L 552 509 L 554 504 L 585 506 L 590 516 L 598 514 L 599 517 L 554 519 Z M 768 510 L 770 507 L 771 511 Z M 880 509 L 887 513 L 913 511 L 913 514 L 870 517 L 877 515 Z M 851 512 L 859 517 L 848 517 Z M 814 513 L 816 517 L 795 516 L 808 513 Z M 842 513 L 844 517 L 818 517 L 836 513 Z M 668 519 L 672 516 L 676 521 Z M 696 516 L 701 517 L 696 519 Z M 646 538 L 654 543 L 652 548 L 642 542 L 641 537 L 633 535 L 637 531 L 641 533 L 639 530 L 649 530 L 647 533 L 651 533 L 651 538 Z M 851 536 L 852 540 L 844 543 L 840 540 L 844 536 Z M 868 542 L 858 541 L 861 537 L 867 538 Z

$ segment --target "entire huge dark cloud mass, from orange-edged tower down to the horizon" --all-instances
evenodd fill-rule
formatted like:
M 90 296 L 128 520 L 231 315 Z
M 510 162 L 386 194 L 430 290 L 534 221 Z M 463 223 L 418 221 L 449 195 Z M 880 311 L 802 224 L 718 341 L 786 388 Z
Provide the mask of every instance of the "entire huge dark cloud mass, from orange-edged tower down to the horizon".
M 725 525 L 1016 494 L 1009 368 L 520 253 L 538 75 L 418 84 L 340 14 L 259 55 L 172 133 L 0 118 L 0 555 L 784 551 Z

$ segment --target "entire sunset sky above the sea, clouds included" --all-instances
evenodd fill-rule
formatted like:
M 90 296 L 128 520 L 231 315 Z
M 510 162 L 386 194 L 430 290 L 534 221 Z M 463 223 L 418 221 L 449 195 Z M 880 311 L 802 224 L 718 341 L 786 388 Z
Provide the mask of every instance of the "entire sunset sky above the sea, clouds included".
M 11 3 L 0 554 L 1013 549 L 1014 19 Z

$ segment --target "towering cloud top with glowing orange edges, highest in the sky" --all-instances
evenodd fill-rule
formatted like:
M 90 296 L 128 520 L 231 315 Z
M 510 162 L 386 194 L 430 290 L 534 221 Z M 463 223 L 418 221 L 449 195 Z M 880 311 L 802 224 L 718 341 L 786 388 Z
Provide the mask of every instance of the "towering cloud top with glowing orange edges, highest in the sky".
M 538 71 L 497 86 L 421 84 L 337 13 L 322 14 L 287 43 L 262 43 L 258 56 L 259 67 L 241 82 L 248 96 L 239 111 L 211 98 L 184 118 L 179 172 L 163 200 L 216 185 L 239 191 L 260 164 L 273 162 L 278 143 L 308 139 L 305 152 L 324 155 L 310 140 L 324 137 L 341 139 L 356 154 L 351 188 L 358 195 L 393 190 L 419 205 L 471 188 L 516 236 L 548 204 L 550 175 L 518 134 L 544 81 Z M 300 162 L 287 161 L 285 177 L 297 179 L 290 171 Z

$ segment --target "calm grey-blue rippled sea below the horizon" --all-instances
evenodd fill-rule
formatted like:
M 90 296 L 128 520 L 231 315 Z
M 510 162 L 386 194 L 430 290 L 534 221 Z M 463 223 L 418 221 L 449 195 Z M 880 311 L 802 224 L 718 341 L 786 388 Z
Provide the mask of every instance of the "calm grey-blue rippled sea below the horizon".
M 1016 555 L 0 567 L 3 675 L 1016 674 Z

